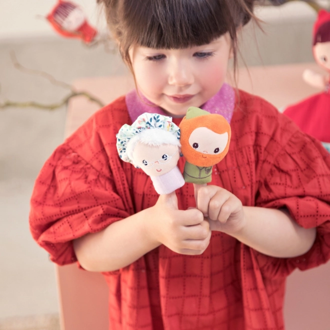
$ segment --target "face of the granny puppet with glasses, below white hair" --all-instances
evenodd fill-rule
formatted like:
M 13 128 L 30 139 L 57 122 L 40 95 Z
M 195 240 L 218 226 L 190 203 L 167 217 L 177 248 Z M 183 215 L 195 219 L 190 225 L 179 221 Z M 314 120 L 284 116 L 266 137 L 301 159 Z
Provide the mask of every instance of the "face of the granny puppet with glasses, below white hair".
M 137 142 L 132 156 L 134 165 L 140 167 L 147 175 L 160 176 L 176 166 L 180 152 L 177 145 L 151 146 Z

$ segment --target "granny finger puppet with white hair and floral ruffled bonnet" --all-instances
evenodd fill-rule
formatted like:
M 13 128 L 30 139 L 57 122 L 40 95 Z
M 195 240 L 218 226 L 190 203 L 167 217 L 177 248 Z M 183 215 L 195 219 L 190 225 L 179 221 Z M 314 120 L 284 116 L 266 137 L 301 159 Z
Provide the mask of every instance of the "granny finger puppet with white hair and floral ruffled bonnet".
M 147 112 L 139 115 L 131 125 L 121 126 L 116 146 L 123 161 L 150 176 L 157 193 L 167 194 L 184 184 L 177 167 L 180 129 L 171 117 Z

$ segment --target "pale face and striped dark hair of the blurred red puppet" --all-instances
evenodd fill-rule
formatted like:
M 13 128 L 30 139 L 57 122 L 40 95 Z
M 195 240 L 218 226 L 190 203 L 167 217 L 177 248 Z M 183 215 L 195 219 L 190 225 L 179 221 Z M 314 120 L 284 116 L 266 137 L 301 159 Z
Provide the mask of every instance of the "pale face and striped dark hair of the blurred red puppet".
M 54 20 L 64 30 L 74 32 L 85 21 L 85 15 L 79 7 L 64 2 L 57 7 Z

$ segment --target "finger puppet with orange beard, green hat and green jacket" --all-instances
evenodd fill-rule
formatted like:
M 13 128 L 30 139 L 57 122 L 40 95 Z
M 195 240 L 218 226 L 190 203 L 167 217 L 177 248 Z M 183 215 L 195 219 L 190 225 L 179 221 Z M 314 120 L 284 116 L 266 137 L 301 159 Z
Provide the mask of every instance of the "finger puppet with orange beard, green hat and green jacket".
M 189 107 L 179 124 L 181 152 L 185 157 L 185 182 L 204 184 L 211 181 L 212 166 L 229 149 L 230 125 L 220 114 Z

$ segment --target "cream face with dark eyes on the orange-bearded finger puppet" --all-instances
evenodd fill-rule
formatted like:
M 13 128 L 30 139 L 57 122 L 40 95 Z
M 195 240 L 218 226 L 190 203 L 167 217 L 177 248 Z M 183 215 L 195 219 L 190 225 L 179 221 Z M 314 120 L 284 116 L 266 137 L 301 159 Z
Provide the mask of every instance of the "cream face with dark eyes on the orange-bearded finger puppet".
M 201 157 L 207 159 L 209 155 L 220 154 L 228 143 L 228 133 L 218 134 L 207 127 L 194 129 L 189 136 L 189 144 Z

